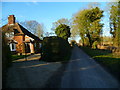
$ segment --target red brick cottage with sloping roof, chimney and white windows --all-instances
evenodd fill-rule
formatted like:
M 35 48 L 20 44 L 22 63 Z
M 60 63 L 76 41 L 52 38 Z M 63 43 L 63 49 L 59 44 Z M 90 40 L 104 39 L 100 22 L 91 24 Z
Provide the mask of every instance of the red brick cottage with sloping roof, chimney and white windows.
M 2 31 L 9 40 L 8 44 L 12 52 L 22 54 L 40 52 L 42 40 L 15 22 L 14 15 L 9 15 L 8 24 L 2 27 Z

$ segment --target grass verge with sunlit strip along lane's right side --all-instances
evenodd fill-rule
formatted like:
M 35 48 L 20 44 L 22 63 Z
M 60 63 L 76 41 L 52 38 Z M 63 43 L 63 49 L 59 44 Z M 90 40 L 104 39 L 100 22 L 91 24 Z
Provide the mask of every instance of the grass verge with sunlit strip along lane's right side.
M 112 54 L 108 50 L 80 48 L 120 81 L 120 55 Z

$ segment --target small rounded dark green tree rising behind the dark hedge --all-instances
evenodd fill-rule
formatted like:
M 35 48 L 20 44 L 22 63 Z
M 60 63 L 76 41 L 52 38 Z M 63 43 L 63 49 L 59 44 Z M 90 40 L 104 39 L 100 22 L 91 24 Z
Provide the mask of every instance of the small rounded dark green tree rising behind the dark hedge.
M 70 27 L 65 25 L 65 24 L 60 24 L 56 29 L 55 29 L 55 34 L 58 37 L 61 37 L 65 40 L 68 40 L 68 38 L 70 37 L 71 33 L 70 33 Z

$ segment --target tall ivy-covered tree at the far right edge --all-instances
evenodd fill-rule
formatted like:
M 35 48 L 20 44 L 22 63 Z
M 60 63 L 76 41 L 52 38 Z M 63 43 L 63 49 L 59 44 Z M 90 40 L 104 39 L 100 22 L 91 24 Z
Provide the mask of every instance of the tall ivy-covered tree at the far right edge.
M 113 45 L 120 46 L 120 1 L 110 9 L 110 33 L 113 36 Z

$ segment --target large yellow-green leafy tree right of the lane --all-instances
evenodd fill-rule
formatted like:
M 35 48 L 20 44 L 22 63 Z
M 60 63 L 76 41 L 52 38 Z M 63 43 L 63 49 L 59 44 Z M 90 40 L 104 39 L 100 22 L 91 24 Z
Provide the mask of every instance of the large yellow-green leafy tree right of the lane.
M 91 9 L 84 9 L 79 11 L 73 17 L 73 27 L 79 31 L 83 45 L 86 40 L 89 42 L 88 46 L 92 47 L 94 42 L 100 41 L 103 24 L 100 23 L 103 17 L 103 11 L 98 7 Z

